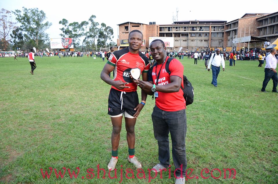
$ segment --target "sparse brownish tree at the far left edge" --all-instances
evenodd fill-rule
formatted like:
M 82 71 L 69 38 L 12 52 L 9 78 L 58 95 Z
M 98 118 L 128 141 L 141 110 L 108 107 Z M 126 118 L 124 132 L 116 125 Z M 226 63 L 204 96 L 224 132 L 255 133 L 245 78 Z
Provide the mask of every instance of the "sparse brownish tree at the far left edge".
M 0 39 L 1 48 L 6 51 L 9 47 L 9 43 L 12 40 L 10 34 L 13 30 L 17 29 L 16 23 L 12 21 L 12 12 L 2 8 L 0 10 Z

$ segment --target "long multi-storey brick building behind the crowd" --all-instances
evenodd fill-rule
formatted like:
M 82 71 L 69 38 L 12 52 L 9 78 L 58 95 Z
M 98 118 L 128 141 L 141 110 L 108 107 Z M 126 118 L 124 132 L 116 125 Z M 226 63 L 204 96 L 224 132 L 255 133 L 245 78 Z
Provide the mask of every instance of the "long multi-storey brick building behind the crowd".
M 278 12 L 246 13 L 239 19 L 227 22 L 223 20 L 189 20 L 175 21 L 172 24 L 157 25 L 150 22 L 143 23 L 125 22 L 118 24 L 119 34 L 117 45 L 121 48 L 128 46 L 128 34 L 132 30 L 140 30 L 143 33 L 144 43 L 141 50 L 149 47 L 149 37 L 172 37 L 173 47 L 169 51 L 179 50 L 206 50 L 220 48 L 231 51 L 232 48 L 248 48 L 247 42 L 237 42 L 235 39 L 247 39 L 250 30 L 249 48 L 261 48 L 265 39 L 272 43 L 278 38 Z M 245 32 L 245 34 L 244 34 Z M 234 43 L 233 43 L 234 41 Z M 228 50 L 230 48 L 230 50 Z

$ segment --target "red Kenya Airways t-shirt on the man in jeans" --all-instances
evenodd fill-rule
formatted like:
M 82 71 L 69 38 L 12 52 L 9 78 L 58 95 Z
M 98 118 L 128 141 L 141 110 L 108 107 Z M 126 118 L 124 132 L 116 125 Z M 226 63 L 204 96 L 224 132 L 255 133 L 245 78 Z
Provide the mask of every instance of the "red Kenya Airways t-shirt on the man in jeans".
M 166 61 L 168 58 L 169 57 L 167 56 Z M 160 71 L 160 68 L 162 67 L 158 79 L 158 85 L 166 85 L 170 83 L 170 76 L 178 76 L 182 79 L 181 85 L 183 87 L 184 67 L 182 63 L 180 63 L 180 61 L 178 61 L 177 59 L 173 59 L 169 63 L 169 71 L 171 72 L 171 74 L 169 75 L 165 69 L 166 61 L 164 62 L 163 66 L 162 64 L 155 64 L 153 66 L 153 70 L 149 71 L 148 73 L 149 81 L 152 81 L 154 84 L 156 84 L 157 75 Z M 158 97 L 156 97 L 156 106 L 164 111 L 178 111 L 185 109 L 185 100 L 183 97 L 182 89 L 180 89 L 180 91 L 178 92 L 173 93 L 158 92 Z

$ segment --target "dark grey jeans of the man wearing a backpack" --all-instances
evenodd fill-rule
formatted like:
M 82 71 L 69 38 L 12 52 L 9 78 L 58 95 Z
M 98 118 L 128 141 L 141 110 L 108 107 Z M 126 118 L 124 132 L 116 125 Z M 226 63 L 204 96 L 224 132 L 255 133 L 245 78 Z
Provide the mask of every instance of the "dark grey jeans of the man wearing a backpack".
M 170 164 L 169 132 L 172 140 L 172 157 L 175 165 L 176 176 L 185 176 L 187 167 L 185 136 L 186 112 L 164 111 L 154 106 L 151 114 L 153 133 L 158 143 L 158 160 L 161 165 L 168 167 Z M 182 169 L 181 169 L 182 167 Z

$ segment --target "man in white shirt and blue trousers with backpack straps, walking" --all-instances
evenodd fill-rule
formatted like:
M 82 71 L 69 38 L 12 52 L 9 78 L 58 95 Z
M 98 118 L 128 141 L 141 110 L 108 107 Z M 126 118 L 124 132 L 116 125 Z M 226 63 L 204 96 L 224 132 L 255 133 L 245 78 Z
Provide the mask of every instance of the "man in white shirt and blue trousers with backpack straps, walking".
M 217 76 L 220 72 L 220 65 L 222 65 L 223 71 L 225 70 L 225 61 L 220 54 L 220 49 L 216 49 L 216 52 L 211 55 L 211 59 L 209 60 L 208 65 L 208 71 L 210 71 L 210 67 L 212 70 L 212 82 L 211 84 L 214 85 L 214 87 L 217 87 Z

